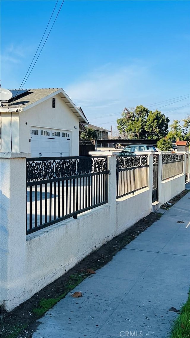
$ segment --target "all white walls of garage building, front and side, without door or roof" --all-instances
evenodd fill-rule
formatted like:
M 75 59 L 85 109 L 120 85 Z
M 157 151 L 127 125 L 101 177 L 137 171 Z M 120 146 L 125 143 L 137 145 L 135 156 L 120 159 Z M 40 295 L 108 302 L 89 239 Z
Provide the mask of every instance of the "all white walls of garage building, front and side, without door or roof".
M 13 112 L 12 123 L 10 123 L 11 113 L 1 113 L 2 152 L 30 153 L 30 127 L 37 126 L 70 131 L 70 156 L 78 156 L 79 119 L 73 114 L 59 94 L 54 97 L 56 98 L 55 108 L 52 108 L 51 97 L 26 111 L 20 113 Z

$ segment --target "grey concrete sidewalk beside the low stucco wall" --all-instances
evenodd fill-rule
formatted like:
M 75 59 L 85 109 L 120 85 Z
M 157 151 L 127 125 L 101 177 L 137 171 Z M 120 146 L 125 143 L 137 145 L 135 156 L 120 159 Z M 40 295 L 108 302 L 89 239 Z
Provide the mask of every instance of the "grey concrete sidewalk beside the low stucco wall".
M 166 338 L 190 285 L 190 192 L 39 319 L 33 338 Z M 183 221 L 184 223 L 177 223 Z

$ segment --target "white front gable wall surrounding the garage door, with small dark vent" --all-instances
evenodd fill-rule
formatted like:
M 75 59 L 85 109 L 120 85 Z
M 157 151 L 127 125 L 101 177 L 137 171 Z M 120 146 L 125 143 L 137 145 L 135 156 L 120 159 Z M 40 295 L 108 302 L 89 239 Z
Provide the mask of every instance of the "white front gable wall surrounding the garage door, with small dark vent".
M 20 152 L 30 152 L 30 126 L 37 126 L 70 130 L 70 156 L 78 155 L 79 119 L 73 114 L 59 94 L 55 98 L 55 108 L 52 108 L 51 97 L 20 113 Z

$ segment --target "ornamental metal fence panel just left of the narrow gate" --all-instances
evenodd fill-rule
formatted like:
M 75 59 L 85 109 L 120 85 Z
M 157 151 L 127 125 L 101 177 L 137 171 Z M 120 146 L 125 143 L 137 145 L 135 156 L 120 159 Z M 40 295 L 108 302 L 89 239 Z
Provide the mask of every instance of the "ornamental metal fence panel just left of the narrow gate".
M 148 186 L 148 155 L 117 155 L 116 198 Z

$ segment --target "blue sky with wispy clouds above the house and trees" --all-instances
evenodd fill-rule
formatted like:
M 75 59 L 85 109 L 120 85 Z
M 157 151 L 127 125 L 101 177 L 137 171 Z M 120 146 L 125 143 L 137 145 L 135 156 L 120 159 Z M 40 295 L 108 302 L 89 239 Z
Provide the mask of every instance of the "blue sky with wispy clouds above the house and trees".
M 55 3 L 1 0 L 3 88 L 20 87 Z M 137 104 L 159 108 L 170 122 L 185 118 L 189 6 L 189 1 L 65 0 L 24 88 L 63 88 L 91 124 L 112 125 L 113 134 L 123 108 Z

